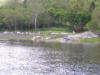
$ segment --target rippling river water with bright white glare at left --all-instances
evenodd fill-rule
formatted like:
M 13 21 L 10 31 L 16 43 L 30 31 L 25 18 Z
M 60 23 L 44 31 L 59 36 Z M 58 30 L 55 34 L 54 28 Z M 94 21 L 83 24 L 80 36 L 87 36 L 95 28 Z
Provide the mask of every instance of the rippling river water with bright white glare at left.
M 0 41 L 0 75 L 100 75 L 99 44 Z

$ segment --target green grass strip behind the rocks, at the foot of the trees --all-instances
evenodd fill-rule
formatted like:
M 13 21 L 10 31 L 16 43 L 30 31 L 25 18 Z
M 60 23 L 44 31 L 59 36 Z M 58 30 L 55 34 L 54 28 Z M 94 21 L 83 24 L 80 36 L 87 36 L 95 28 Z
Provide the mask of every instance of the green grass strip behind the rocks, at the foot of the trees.
M 4 31 L 9 31 L 9 30 L 4 30 Z M 55 24 L 52 27 L 41 27 L 37 28 L 37 32 L 41 32 L 44 34 L 49 34 L 50 32 L 55 32 L 55 33 L 61 33 L 61 32 L 69 32 L 71 33 L 72 27 L 67 26 L 67 25 L 62 25 L 62 24 Z M 14 30 L 11 30 L 10 32 L 15 32 Z M 35 33 L 34 29 L 31 30 L 16 30 L 16 32 L 30 32 L 30 33 Z

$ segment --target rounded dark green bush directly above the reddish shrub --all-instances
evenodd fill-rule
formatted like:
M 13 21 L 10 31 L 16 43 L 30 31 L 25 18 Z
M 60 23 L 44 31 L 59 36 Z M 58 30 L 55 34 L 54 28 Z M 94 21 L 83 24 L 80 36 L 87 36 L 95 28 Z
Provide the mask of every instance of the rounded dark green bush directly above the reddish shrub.
M 73 25 L 86 25 L 91 19 L 91 14 L 86 11 L 81 12 L 69 12 L 68 14 L 68 22 Z

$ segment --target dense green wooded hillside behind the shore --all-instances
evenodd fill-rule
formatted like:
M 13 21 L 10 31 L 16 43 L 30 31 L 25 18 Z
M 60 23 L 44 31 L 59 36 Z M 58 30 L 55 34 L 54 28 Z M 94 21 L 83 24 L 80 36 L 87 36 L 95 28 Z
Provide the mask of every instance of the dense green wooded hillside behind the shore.
M 0 30 L 36 31 L 66 25 L 100 32 L 99 13 L 99 0 L 8 0 L 0 7 Z

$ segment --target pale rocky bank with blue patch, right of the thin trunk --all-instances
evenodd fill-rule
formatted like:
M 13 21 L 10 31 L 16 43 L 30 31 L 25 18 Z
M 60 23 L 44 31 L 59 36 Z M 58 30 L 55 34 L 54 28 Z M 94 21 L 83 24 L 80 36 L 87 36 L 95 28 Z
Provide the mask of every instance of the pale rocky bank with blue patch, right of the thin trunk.
M 56 36 L 56 37 L 55 37 Z M 61 37 L 57 37 L 61 36 Z M 61 43 L 70 43 L 70 42 L 80 42 L 79 39 L 91 39 L 91 38 L 96 38 L 99 37 L 99 35 L 87 31 L 83 33 L 74 33 L 74 34 L 68 34 L 68 33 L 53 33 L 48 35 L 47 37 L 43 37 L 43 35 L 36 35 L 33 36 L 32 40 L 33 41 L 45 41 L 45 42 L 61 42 Z

